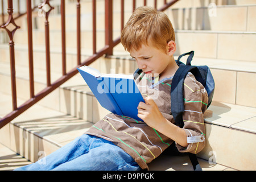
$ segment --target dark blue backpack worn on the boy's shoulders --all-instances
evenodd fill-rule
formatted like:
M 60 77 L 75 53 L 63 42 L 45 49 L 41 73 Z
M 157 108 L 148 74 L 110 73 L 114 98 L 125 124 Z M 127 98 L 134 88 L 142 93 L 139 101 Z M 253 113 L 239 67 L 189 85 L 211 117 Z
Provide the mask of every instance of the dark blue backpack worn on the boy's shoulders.
M 189 55 L 187 59 L 187 63 L 184 64 L 180 62 L 181 57 Z M 179 69 L 177 69 L 174 77 L 172 78 L 172 86 L 171 86 L 171 103 L 175 103 L 171 105 L 172 115 L 174 117 L 174 121 L 176 125 L 179 127 L 184 126 L 183 122 L 183 112 L 184 112 L 184 96 L 183 96 L 183 89 L 184 89 L 184 80 L 187 76 L 188 72 L 191 72 L 195 77 L 196 80 L 201 82 L 204 88 L 207 90 L 208 93 L 208 105 L 207 108 L 212 103 L 213 93 L 214 93 L 214 79 L 212 73 L 208 66 L 192 66 L 191 61 L 194 56 L 194 51 L 184 53 L 180 55 L 176 60 L 177 65 L 179 65 Z M 191 160 L 193 169 L 195 171 L 201 171 L 202 168 L 200 167 L 199 162 L 197 161 L 196 154 L 191 154 L 188 152 L 189 159 Z

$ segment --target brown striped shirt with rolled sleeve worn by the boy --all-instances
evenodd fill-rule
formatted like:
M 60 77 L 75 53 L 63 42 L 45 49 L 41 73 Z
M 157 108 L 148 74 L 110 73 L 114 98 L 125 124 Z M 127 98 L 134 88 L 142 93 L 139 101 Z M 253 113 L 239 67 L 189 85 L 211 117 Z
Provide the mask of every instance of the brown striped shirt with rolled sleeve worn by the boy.
M 171 78 L 163 80 L 151 78 L 142 73 L 137 80 L 138 88 L 143 97 L 154 99 L 164 118 L 175 124 L 171 114 Z M 188 73 L 184 81 L 184 114 L 185 133 L 188 138 L 200 136 L 204 138 L 205 126 L 203 113 L 207 109 L 208 94 L 195 77 Z M 159 133 L 146 123 L 133 118 L 110 113 L 93 125 L 86 134 L 96 135 L 112 141 L 122 150 L 131 155 L 142 169 L 148 169 L 147 164 L 157 158 L 174 140 Z M 196 154 L 204 148 L 205 140 L 189 143 L 184 148 L 176 143 L 180 152 Z

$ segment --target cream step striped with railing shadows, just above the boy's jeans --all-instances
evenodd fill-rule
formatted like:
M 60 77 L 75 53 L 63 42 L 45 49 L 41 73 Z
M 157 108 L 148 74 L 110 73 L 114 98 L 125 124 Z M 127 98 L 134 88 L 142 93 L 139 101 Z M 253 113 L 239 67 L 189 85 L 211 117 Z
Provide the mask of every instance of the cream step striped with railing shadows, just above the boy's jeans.
M 35 162 L 79 137 L 90 126 L 92 123 L 84 119 L 36 104 L 0 130 L 0 143 Z

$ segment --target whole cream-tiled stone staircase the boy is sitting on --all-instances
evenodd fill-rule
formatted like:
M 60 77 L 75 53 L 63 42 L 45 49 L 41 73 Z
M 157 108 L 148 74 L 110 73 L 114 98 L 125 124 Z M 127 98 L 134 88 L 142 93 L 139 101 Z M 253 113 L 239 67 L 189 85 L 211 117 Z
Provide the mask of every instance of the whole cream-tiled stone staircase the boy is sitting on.
M 114 1 L 114 38 L 119 35 L 119 1 Z M 209 6 L 209 3 L 214 3 Z M 140 1 L 137 6 L 140 5 Z M 217 5 L 217 6 L 213 6 Z M 160 6 L 160 5 L 159 5 Z M 92 54 L 89 27 L 89 1 L 81 1 L 82 60 Z M 131 5 L 125 18 L 131 14 Z M 129 10 L 130 8 L 130 10 Z M 52 80 L 61 76 L 61 34 L 58 6 L 49 16 Z M 97 1 L 97 47 L 104 44 L 104 2 Z M 166 11 L 176 32 L 176 56 L 195 51 L 193 64 L 208 65 L 216 82 L 212 105 L 205 113 L 207 146 L 197 156 L 204 170 L 255 170 L 256 151 L 256 2 L 181 0 Z M 76 3 L 67 2 L 67 70 L 76 65 Z M 14 36 L 18 105 L 29 96 L 26 18 Z M 34 13 L 35 93 L 46 86 L 44 18 Z M 89 26 L 88 26 L 89 25 Z M 0 31 L 0 117 L 11 111 L 9 47 L 5 32 Z M 134 60 L 121 45 L 114 56 L 101 57 L 90 66 L 102 73 L 133 73 Z M 184 60 L 185 61 L 185 60 Z M 79 137 L 107 110 L 98 104 L 82 77 L 77 74 L 38 104 L 32 106 L 0 130 L 0 143 L 35 162 Z M 2 86 L 4 85 L 4 86 Z M 0 150 L 1 151 L 1 150 Z M 1 154 L 0 154 L 1 156 Z M 1 164 L 0 157 L 0 164 Z M 187 156 L 160 156 L 151 170 L 191 170 Z M 1 169 L 1 165 L 0 165 Z

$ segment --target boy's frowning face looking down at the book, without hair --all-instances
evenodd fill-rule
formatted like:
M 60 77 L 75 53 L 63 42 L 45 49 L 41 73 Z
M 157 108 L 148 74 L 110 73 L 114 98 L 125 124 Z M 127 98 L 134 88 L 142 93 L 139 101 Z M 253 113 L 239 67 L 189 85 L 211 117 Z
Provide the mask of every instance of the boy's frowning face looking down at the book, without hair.
M 135 50 L 131 48 L 130 55 L 138 64 L 138 68 L 152 77 L 163 74 L 170 67 L 170 55 L 162 49 L 142 44 L 141 48 Z

